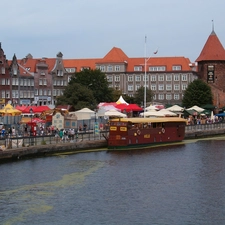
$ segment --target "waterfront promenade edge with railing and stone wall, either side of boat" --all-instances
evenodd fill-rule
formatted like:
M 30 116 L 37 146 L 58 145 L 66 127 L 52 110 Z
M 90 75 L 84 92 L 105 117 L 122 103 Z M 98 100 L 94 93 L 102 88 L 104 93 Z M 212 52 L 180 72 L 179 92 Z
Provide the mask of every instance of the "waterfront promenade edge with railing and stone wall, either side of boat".
M 17 160 L 62 152 L 107 150 L 107 141 L 104 138 L 107 134 L 108 131 L 99 134 L 90 131 L 65 141 L 59 141 L 54 135 L 1 139 L 0 160 Z M 225 123 L 189 125 L 185 129 L 185 139 L 223 134 L 225 134 Z

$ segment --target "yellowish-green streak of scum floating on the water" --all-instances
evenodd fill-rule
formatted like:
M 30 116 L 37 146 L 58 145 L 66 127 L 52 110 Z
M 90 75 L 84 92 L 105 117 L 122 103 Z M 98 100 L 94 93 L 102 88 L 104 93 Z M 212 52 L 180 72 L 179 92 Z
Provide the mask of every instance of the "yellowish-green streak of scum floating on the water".
M 59 189 L 67 188 L 72 185 L 81 185 L 85 178 L 104 165 L 104 162 L 94 161 L 94 163 L 86 164 L 89 166 L 85 171 L 75 172 L 63 175 L 62 179 L 46 183 L 33 185 L 24 185 L 17 189 L 1 191 L 0 200 L 2 202 L 13 202 L 19 214 L 13 216 L 4 225 L 13 225 L 18 222 L 26 221 L 26 217 L 35 214 L 46 213 L 53 209 L 53 206 L 48 205 L 48 199 L 53 196 Z M 15 214 L 14 214 L 15 215 Z

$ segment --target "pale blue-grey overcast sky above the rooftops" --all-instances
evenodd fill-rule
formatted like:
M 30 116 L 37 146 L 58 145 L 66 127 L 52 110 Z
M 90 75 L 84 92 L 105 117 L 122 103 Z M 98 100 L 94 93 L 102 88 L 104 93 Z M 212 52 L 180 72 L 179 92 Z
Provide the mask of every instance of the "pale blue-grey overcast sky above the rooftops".
M 194 62 L 214 30 L 225 46 L 224 0 L 1 0 L 0 42 L 8 59 L 184 56 Z M 156 55 L 154 55 L 156 56 Z

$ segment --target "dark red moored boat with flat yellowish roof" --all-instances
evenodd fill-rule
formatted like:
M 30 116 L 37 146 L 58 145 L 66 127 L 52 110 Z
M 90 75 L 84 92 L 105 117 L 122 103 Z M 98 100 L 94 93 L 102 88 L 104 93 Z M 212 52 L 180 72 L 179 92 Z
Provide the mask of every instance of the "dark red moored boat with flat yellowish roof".
M 112 119 L 109 125 L 108 148 L 180 142 L 185 136 L 186 122 L 186 119 L 179 117 Z

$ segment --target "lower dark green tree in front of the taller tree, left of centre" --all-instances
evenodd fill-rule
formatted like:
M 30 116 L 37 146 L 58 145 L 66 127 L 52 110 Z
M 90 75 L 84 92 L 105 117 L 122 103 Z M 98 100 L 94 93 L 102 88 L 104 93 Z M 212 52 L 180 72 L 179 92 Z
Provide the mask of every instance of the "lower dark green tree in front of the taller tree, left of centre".
M 96 100 L 93 91 L 79 83 L 70 83 L 63 92 L 62 96 L 57 98 L 57 105 L 72 105 L 76 110 L 82 108 L 96 108 Z

